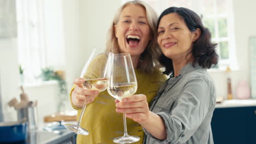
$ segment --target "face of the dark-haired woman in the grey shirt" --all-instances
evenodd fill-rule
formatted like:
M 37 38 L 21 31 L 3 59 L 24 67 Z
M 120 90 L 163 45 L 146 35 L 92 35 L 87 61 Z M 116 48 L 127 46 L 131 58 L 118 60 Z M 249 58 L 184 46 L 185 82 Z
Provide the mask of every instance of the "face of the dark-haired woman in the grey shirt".
M 163 16 L 159 22 L 158 44 L 164 55 L 173 61 L 183 61 L 199 36 L 200 29 L 189 31 L 184 20 L 176 13 Z

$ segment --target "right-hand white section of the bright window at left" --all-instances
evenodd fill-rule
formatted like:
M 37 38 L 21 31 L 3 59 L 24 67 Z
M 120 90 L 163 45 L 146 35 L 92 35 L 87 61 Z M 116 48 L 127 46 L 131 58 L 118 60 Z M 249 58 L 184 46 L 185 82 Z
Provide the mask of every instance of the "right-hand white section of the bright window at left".
M 65 68 L 62 0 L 44 0 L 45 65 Z

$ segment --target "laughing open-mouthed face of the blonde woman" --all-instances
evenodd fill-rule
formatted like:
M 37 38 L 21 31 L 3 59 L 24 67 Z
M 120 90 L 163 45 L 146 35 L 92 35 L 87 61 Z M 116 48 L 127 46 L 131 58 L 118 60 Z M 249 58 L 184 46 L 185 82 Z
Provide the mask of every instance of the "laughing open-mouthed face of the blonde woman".
M 150 39 L 150 27 L 142 6 L 129 4 L 124 7 L 115 25 L 115 37 L 118 39 L 121 53 L 141 55 Z

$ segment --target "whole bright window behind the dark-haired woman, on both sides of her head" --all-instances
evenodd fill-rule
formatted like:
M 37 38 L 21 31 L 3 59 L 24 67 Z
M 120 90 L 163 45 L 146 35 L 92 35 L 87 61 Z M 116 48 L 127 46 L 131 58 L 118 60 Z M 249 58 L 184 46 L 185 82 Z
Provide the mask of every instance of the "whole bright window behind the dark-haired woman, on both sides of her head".
M 210 30 L 213 43 L 218 43 L 219 63 L 217 67 L 225 70 L 227 66 L 237 69 L 234 43 L 234 26 L 232 25 L 231 0 L 142 0 L 161 14 L 168 7 L 185 7 L 202 17 L 203 24 Z M 123 0 L 123 3 L 127 2 Z

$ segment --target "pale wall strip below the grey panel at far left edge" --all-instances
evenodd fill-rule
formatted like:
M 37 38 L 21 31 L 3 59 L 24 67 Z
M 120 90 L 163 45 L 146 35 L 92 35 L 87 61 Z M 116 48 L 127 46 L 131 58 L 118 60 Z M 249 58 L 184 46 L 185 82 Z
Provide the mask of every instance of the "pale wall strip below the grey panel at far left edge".
M 2 89 L 2 106 L 4 119 L 15 119 L 14 109 L 9 109 L 8 101 L 18 97 L 19 89 L 19 71 L 17 58 L 17 40 L 16 38 L 0 39 L 0 73 Z

